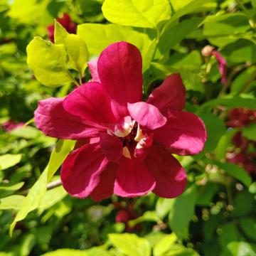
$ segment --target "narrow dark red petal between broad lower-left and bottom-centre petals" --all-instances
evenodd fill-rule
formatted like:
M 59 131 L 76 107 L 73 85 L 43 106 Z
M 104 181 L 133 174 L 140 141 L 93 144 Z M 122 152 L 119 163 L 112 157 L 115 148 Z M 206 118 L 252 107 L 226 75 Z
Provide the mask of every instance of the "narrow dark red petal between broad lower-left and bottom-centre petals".
M 102 201 L 112 196 L 112 193 L 114 193 L 116 173 L 117 164 L 108 164 L 107 169 L 103 171 L 100 176 L 100 183 L 98 183 L 97 187 L 90 193 L 90 197 L 94 201 Z

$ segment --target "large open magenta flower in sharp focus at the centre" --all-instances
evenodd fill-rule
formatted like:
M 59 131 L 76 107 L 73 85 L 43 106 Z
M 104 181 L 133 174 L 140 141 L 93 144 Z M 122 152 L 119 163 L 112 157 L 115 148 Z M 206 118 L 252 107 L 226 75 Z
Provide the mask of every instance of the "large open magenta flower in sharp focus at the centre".
M 35 112 L 36 126 L 48 136 L 78 140 L 61 169 L 65 190 L 97 201 L 112 193 L 183 193 L 186 172 L 171 153 L 198 154 L 206 129 L 195 114 L 182 112 L 181 77 L 169 76 L 142 102 L 142 56 L 135 46 L 113 43 L 93 67 L 92 82 L 64 99 L 41 100 Z

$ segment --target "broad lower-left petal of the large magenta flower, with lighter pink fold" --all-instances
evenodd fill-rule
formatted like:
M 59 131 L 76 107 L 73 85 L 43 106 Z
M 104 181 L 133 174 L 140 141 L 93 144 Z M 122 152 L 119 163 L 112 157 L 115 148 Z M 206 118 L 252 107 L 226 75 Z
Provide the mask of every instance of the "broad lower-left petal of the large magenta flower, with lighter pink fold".
M 108 163 L 99 144 L 86 144 L 72 151 L 61 168 L 63 187 L 71 196 L 89 196 L 100 183 L 100 175 L 107 169 Z

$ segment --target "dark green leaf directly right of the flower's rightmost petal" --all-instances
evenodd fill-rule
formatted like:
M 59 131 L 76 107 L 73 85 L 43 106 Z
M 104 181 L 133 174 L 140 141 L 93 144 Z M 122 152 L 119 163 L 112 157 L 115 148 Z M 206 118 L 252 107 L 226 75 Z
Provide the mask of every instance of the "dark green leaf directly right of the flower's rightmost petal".
M 207 140 L 204 150 L 213 151 L 218 145 L 220 138 L 225 134 L 226 127 L 223 119 L 212 113 L 205 113 L 200 115 L 203 122 L 206 124 Z

